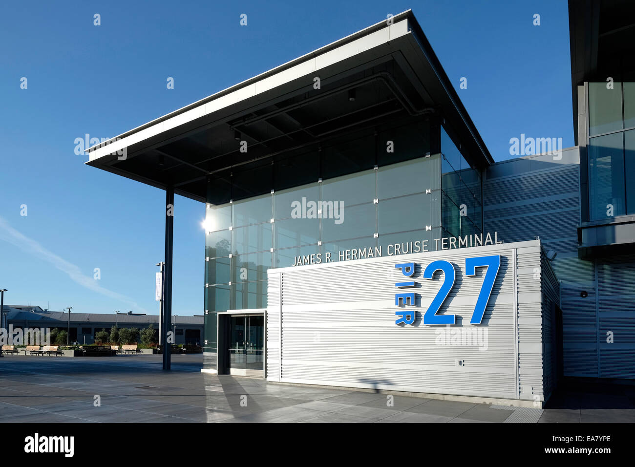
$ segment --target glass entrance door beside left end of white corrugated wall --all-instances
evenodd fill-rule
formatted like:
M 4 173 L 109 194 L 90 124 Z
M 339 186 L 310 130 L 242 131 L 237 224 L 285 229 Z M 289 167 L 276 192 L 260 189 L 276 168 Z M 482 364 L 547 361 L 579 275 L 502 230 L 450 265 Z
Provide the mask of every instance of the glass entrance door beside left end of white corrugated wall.
M 231 316 L 229 327 L 229 373 L 264 377 L 264 315 Z

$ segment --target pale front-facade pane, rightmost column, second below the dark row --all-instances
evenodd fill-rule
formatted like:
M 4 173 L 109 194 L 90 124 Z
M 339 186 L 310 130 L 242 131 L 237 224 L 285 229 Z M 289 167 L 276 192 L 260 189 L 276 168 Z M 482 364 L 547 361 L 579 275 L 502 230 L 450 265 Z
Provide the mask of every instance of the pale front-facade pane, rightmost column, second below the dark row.
M 431 194 L 411 194 L 391 200 L 381 200 L 377 205 L 379 234 L 438 227 L 439 191 Z

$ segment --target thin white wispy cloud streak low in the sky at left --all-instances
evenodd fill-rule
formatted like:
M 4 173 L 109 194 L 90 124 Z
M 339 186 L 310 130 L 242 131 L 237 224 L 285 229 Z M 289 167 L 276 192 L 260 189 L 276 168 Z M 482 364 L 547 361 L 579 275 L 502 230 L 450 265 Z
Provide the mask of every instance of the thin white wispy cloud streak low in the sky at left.
M 20 248 L 20 250 L 22 250 L 23 252 L 49 262 L 63 273 L 68 274 L 71 280 L 78 283 L 82 287 L 88 288 L 89 290 L 97 292 L 98 294 L 105 295 L 106 297 L 125 302 L 134 306 L 138 310 L 147 313 L 147 310 L 139 306 L 133 299 L 127 297 L 126 295 L 118 294 L 117 292 L 113 292 L 112 290 L 102 287 L 101 285 L 99 285 L 98 281 L 93 279 L 93 276 L 86 276 L 86 274 L 82 273 L 81 269 L 79 269 L 79 266 L 66 261 L 64 258 L 44 248 L 36 240 L 23 235 L 22 233 L 11 227 L 9 223 L 6 222 L 5 219 L 3 219 L 3 217 L 0 217 L 0 240 L 11 243 L 11 245 Z

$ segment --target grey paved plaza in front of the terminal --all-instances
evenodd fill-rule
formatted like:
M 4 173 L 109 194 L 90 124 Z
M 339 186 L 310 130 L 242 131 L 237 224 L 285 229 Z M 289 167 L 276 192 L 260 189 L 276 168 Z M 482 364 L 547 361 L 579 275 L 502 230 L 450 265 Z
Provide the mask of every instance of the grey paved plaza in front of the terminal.
M 565 384 L 547 409 L 275 384 L 200 372 L 201 355 L 0 359 L 0 423 L 635 422 L 635 386 Z M 99 396 L 100 406 L 95 406 Z

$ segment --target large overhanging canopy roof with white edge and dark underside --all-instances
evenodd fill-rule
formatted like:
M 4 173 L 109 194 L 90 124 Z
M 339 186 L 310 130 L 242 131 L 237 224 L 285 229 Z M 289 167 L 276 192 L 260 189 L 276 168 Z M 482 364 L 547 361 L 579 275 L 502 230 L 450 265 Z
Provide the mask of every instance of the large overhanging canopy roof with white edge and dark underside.
M 455 130 L 469 163 L 493 163 L 413 13 L 391 19 L 90 147 L 86 163 L 204 202 L 208 180 L 237 166 L 429 114 Z

